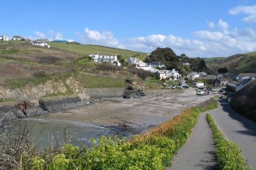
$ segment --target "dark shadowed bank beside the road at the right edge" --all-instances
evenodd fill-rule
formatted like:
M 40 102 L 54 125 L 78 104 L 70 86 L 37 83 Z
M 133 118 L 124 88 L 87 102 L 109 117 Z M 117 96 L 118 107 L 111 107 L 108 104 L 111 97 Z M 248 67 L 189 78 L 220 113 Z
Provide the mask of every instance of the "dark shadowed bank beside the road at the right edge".
M 246 118 L 256 122 L 256 80 L 246 84 L 232 97 L 230 105 L 232 109 Z

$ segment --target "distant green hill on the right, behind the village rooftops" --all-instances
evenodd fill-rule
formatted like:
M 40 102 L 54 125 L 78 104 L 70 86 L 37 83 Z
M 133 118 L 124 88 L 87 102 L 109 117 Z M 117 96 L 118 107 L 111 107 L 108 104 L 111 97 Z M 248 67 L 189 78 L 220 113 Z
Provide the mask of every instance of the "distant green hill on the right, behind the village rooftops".
M 227 58 L 208 58 L 205 63 L 208 68 L 214 70 L 225 66 L 228 72 L 256 73 L 256 52 L 236 54 Z

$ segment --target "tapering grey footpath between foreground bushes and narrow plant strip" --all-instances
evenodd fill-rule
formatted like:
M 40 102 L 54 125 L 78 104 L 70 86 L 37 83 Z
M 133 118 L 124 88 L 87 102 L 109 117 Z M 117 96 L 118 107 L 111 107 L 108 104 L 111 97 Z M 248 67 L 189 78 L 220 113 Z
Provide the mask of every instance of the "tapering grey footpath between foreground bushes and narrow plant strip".
M 200 114 L 188 142 L 173 157 L 168 169 L 216 169 L 216 148 L 205 113 Z

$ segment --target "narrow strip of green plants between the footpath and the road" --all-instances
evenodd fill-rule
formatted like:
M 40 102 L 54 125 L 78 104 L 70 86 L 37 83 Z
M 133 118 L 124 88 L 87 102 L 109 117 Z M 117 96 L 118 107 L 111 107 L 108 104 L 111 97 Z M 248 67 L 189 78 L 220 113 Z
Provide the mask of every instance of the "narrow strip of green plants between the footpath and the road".
M 219 169 L 251 169 L 237 144 L 223 137 L 210 114 L 207 114 L 207 121 L 214 134 Z

